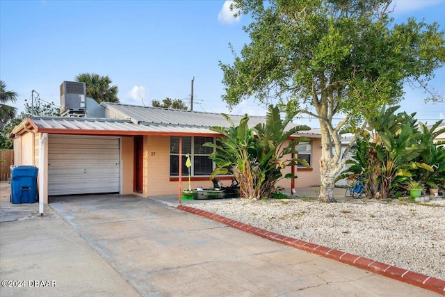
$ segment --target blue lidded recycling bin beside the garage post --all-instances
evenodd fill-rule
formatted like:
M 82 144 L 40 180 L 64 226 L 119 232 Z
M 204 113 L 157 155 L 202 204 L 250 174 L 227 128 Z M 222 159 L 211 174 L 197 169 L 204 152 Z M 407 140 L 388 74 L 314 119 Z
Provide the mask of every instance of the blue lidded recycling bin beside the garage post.
M 10 202 L 14 204 L 37 202 L 38 168 L 36 166 L 10 166 L 10 170 Z

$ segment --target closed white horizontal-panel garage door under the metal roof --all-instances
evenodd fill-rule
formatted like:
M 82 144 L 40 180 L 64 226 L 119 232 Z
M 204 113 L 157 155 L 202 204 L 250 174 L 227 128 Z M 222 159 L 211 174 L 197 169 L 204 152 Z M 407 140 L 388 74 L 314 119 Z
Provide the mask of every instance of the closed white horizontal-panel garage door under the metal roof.
M 48 195 L 119 192 L 119 138 L 49 135 Z

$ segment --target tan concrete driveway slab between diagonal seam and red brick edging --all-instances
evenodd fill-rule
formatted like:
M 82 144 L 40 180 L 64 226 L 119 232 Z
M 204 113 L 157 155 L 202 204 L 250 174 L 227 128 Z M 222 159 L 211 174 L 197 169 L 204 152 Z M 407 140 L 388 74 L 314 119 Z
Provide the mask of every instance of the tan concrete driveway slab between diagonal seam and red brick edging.
M 430 292 L 133 196 L 51 207 L 143 296 L 426 296 Z

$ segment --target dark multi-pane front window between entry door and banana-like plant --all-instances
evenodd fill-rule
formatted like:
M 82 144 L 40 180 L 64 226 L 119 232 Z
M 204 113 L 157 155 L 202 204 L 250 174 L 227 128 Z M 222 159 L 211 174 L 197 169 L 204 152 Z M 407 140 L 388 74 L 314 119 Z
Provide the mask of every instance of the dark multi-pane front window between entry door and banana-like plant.
M 213 152 L 212 147 L 203 147 L 204 143 L 213 142 L 213 137 L 182 137 L 182 172 L 181 175 L 188 175 L 186 166 L 189 154 L 192 166 L 190 173 L 192 176 L 211 175 L 213 162 L 209 156 Z M 179 175 L 179 136 L 170 137 L 170 176 Z

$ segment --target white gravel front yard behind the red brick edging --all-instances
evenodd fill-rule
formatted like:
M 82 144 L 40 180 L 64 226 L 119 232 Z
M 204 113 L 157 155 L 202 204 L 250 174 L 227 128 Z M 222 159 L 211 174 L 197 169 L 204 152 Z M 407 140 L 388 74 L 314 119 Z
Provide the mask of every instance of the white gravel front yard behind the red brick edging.
M 241 223 L 445 280 L 445 200 L 209 200 L 191 206 Z

